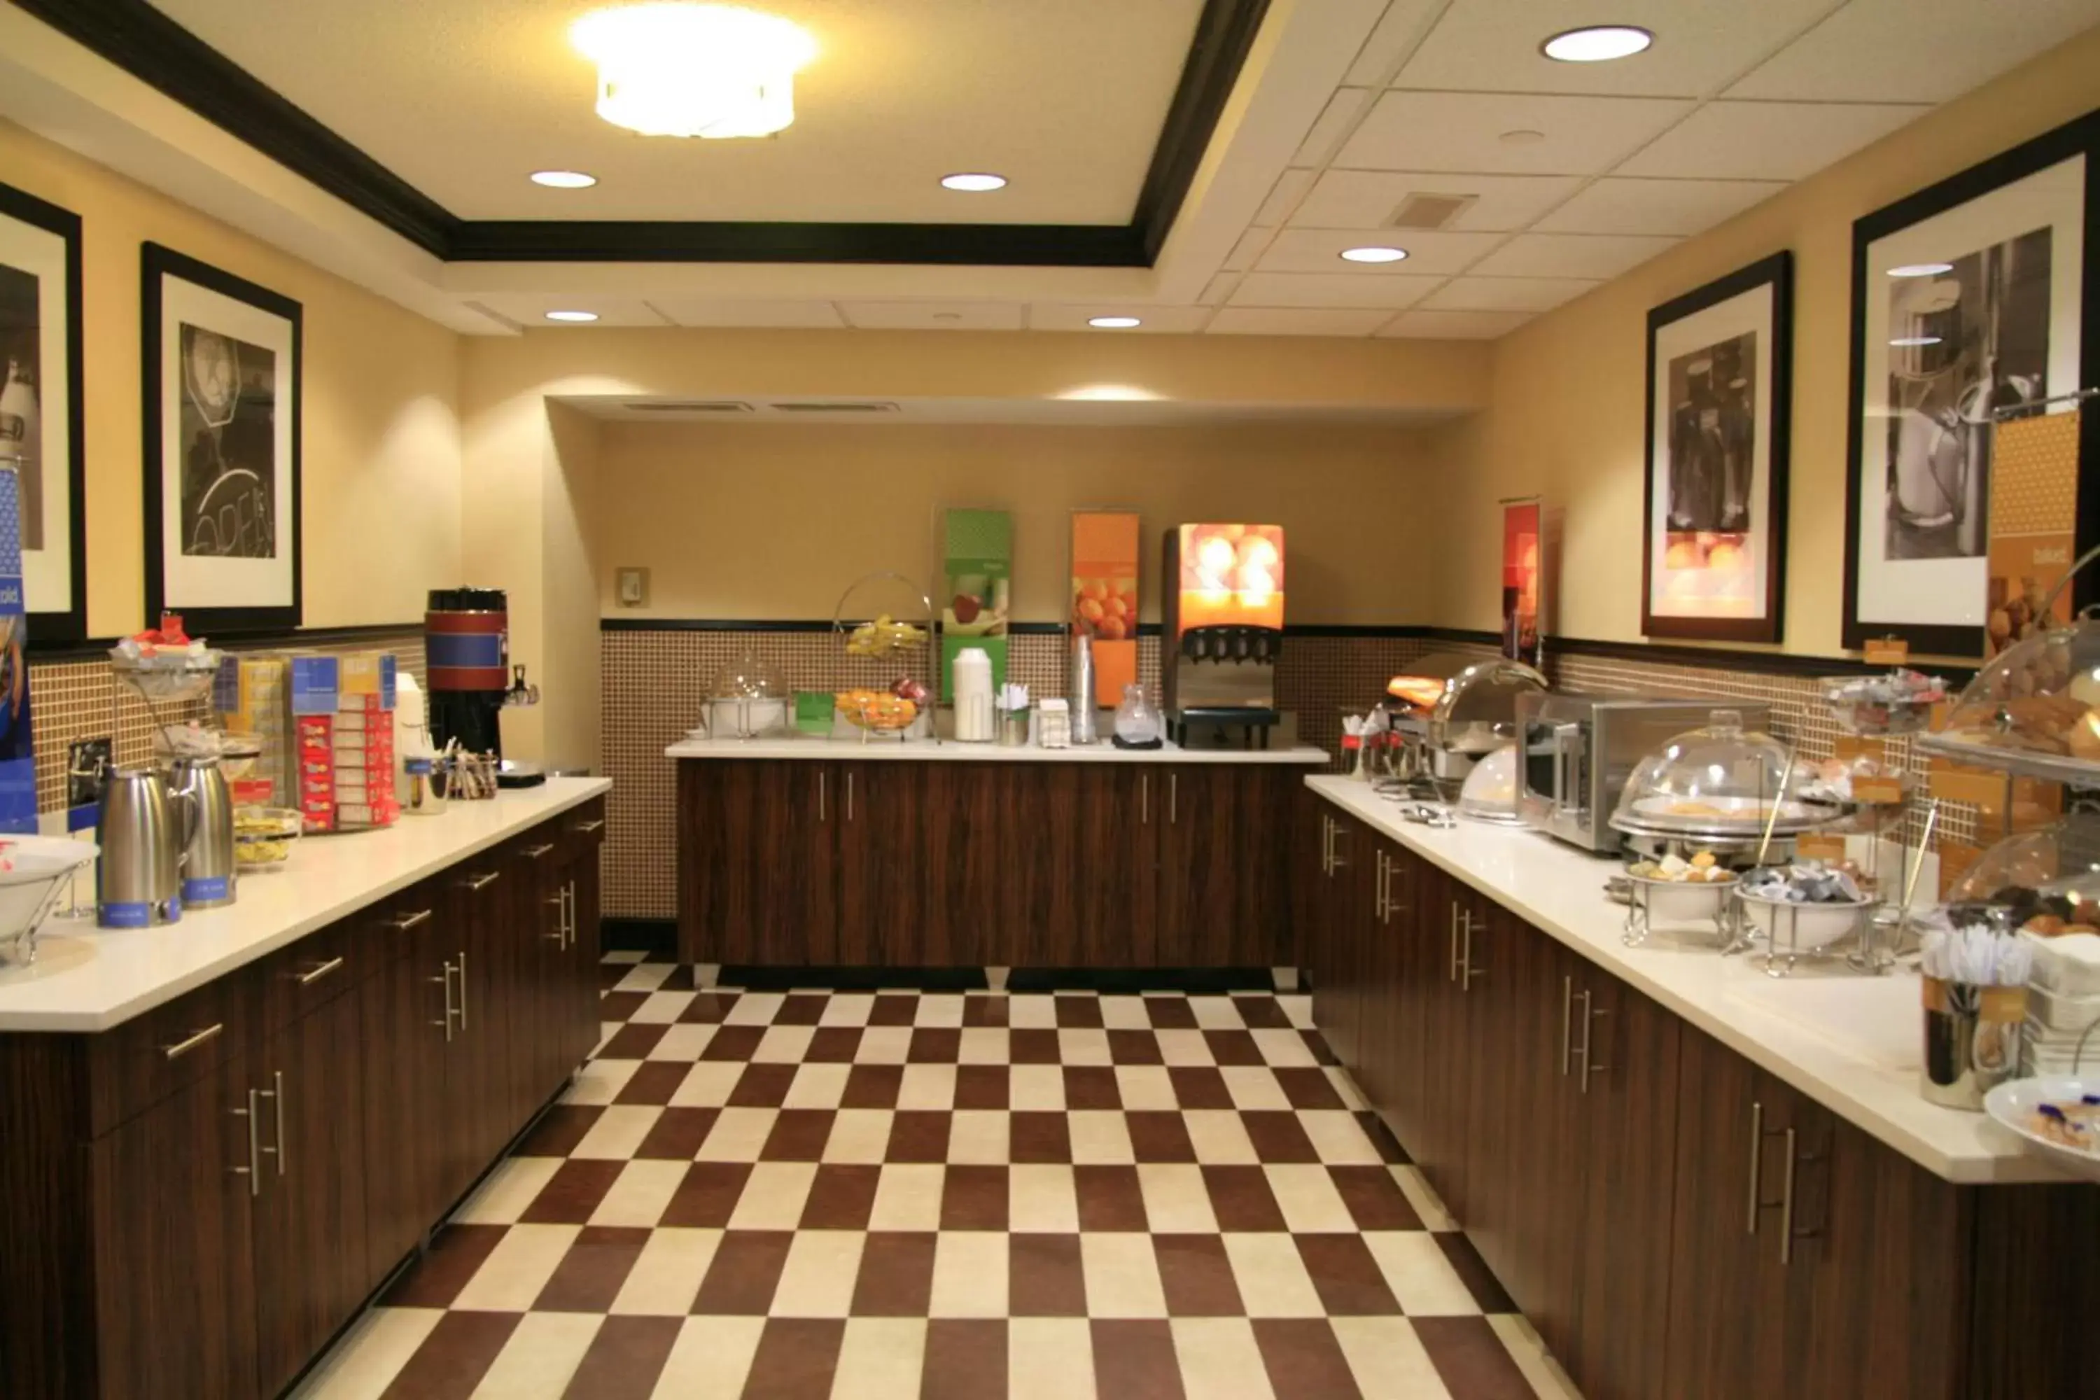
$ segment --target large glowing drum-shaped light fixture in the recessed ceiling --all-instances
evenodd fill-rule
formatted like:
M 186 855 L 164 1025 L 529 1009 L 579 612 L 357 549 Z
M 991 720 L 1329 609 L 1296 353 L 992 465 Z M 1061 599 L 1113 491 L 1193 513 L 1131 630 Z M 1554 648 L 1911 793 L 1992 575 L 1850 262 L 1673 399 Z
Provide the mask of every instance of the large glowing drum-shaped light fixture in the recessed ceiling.
M 733 4 L 596 10 L 569 42 L 598 65 L 598 115 L 645 136 L 771 136 L 817 57 L 800 25 Z

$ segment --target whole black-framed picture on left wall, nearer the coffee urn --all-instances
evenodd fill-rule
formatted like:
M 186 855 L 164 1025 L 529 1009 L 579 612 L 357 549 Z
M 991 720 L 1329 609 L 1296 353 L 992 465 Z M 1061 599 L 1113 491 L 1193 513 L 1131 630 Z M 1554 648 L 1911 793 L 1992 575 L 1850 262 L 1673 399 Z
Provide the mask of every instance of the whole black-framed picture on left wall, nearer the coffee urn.
M 145 611 L 296 628 L 300 306 L 145 246 Z

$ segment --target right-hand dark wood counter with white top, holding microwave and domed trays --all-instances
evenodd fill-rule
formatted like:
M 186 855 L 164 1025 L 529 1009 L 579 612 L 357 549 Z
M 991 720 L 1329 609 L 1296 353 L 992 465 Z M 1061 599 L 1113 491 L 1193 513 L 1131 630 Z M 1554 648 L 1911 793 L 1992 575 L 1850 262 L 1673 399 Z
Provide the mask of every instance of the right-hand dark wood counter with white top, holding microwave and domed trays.
M 1310 779 L 1312 1018 L 1592 1400 L 2087 1394 L 2100 1190 L 1917 1098 L 1915 978 L 1630 949 L 1613 865 Z

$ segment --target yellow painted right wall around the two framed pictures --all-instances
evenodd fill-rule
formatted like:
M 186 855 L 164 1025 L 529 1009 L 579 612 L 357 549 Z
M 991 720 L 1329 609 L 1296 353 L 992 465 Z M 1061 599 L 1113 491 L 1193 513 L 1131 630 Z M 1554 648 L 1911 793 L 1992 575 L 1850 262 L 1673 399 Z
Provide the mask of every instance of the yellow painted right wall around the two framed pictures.
M 1434 619 L 1497 625 L 1508 495 L 1564 506 L 1556 632 L 1640 638 L 1646 315 L 1781 248 L 1796 258 L 1785 651 L 1840 651 L 1852 220 L 2100 107 L 2100 29 L 1949 103 L 1495 344 L 1491 407 L 1426 434 Z

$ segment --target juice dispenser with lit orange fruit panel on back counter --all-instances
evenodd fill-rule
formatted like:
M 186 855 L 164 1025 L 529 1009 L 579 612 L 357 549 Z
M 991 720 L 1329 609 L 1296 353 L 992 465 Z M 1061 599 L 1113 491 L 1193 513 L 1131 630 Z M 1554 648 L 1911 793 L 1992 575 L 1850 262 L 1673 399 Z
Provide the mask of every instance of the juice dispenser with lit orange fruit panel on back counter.
M 1178 525 L 1166 535 L 1159 680 L 1168 728 L 1268 747 L 1283 655 L 1283 527 Z

